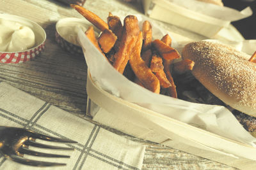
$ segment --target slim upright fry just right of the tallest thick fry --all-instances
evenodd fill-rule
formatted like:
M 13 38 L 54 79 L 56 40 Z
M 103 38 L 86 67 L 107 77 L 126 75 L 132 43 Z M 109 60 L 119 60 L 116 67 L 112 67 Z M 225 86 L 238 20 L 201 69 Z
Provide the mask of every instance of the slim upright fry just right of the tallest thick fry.
M 145 20 L 142 24 L 142 34 L 143 34 L 143 50 L 150 48 L 152 43 L 152 26 L 148 20 Z

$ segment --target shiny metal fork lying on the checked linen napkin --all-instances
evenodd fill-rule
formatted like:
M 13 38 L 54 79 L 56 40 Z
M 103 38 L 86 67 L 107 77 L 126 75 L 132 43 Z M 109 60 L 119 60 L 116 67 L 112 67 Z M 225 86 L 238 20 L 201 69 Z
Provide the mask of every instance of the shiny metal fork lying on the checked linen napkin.
M 44 134 L 39 134 L 28 129 L 22 129 L 17 127 L 5 127 L 0 126 L 0 153 L 4 157 L 11 159 L 20 164 L 26 164 L 29 166 L 46 167 L 46 166 L 65 166 L 66 164 L 57 162 L 44 162 L 38 160 L 31 160 L 24 158 L 24 154 L 35 155 L 38 157 L 55 157 L 55 158 L 69 158 L 68 155 L 56 155 L 51 153 L 42 153 L 29 150 L 29 146 L 35 146 L 38 148 L 49 148 L 57 150 L 74 150 L 73 148 L 52 146 L 38 143 L 35 140 L 42 139 L 45 141 L 55 141 L 59 143 L 77 143 L 70 139 L 54 138 Z

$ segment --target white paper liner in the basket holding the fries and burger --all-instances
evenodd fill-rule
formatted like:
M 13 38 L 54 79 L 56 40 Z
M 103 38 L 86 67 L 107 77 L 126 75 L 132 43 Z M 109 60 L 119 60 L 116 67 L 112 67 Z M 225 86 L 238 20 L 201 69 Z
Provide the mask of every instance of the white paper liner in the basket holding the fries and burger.
M 140 23 L 145 19 L 149 20 L 142 15 L 136 16 Z M 161 39 L 164 36 L 164 31 L 154 25 L 151 20 L 150 23 L 152 24 L 154 38 Z M 94 83 L 103 90 L 125 101 L 156 111 L 166 117 L 175 118 L 180 122 L 201 127 L 209 132 L 253 147 L 256 146 L 254 143 L 256 139 L 239 124 L 227 108 L 190 103 L 173 97 L 154 94 L 118 73 L 84 35 L 83 31 L 78 32 L 78 41 L 83 48 L 86 64 Z M 175 48 L 175 46 L 173 47 Z

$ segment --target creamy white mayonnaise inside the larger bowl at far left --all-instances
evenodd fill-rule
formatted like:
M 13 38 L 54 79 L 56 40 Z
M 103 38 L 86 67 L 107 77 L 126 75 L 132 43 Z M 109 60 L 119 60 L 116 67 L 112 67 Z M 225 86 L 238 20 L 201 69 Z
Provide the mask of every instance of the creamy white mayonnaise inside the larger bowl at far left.
M 35 34 L 31 28 L 19 22 L 0 18 L 0 51 L 20 52 L 35 46 Z

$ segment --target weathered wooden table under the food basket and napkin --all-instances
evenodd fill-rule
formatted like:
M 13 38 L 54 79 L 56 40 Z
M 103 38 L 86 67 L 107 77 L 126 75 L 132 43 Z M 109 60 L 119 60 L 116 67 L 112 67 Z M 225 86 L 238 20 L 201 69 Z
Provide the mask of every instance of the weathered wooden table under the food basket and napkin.
M 143 14 L 140 3 L 128 4 L 118 0 L 87 0 L 84 7 L 102 18 L 106 18 L 109 11 L 124 16 L 133 13 Z M 42 25 L 47 34 L 45 50 L 36 59 L 21 64 L 0 64 L 0 81 L 5 81 L 13 87 L 54 104 L 70 114 L 91 121 L 85 116 L 87 66 L 84 57 L 65 52 L 55 41 L 55 24 L 60 18 L 83 17 L 69 6 L 52 0 L 1 0 L 0 12 L 33 20 Z M 205 39 L 203 36 L 181 30 L 170 24 L 161 22 L 158 24 L 170 31 L 177 40 Z M 97 124 L 97 122 L 93 123 Z M 143 169 L 234 169 L 101 126 L 147 146 Z

